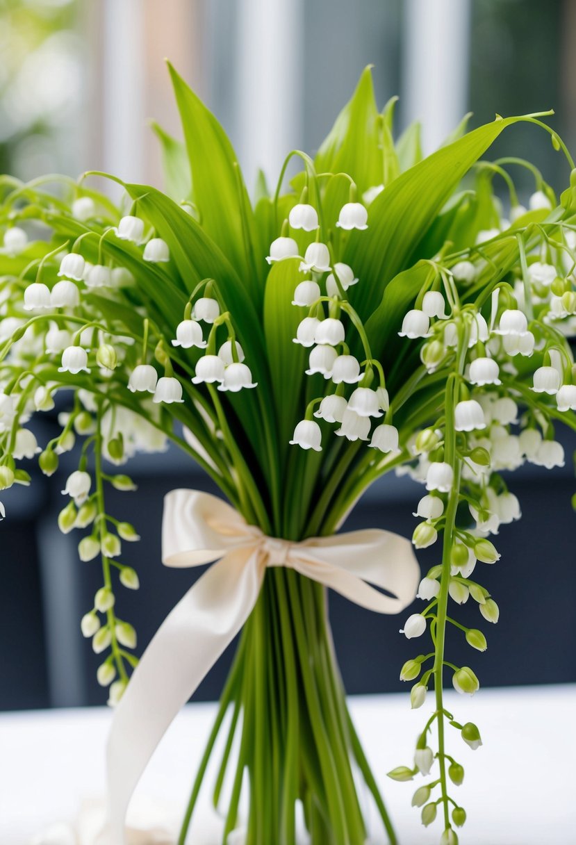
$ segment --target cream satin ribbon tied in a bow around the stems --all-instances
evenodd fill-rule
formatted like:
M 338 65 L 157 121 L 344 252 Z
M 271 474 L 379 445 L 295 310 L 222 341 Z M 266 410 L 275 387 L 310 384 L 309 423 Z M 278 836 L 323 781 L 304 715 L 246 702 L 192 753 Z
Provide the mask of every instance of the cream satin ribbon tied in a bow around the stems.
M 183 568 L 215 560 L 160 625 L 117 705 L 106 755 L 109 805 L 102 845 L 125 845 L 128 803 L 149 758 L 246 622 L 267 567 L 289 567 L 377 613 L 399 613 L 409 605 L 420 577 L 410 541 L 392 532 L 289 542 L 266 537 L 208 493 L 168 493 L 162 562 Z

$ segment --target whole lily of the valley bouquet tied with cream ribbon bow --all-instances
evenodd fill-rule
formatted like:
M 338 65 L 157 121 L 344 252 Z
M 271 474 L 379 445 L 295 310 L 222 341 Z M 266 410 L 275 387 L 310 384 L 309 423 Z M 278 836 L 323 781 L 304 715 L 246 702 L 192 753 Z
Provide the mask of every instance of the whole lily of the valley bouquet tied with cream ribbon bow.
M 566 340 L 576 187 L 558 202 L 529 162 L 481 157 L 521 123 L 549 132 L 573 161 L 537 115 L 468 134 L 463 122 L 421 159 L 418 128 L 394 141 L 394 101 L 378 112 L 366 71 L 315 158 L 292 152 L 274 190 L 260 179 L 251 202 L 226 135 L 171 75 L 186 144 L 157 128 L 167 194 L 121 183 L 117 206 L 84 174 L 4 177 L 0 198 L 0 481 L 27 484 L 36 453 L 52 475 L 79 440 L 59 525 L 102 571 L 81 621 L 117 706 L 102 841 L 123 841 L 155 745 L 238 631 L 178 841 L 223 725 L 213 796 L 222 842 L 242 826 L 247 845 L 294 845 L 300 819 L 312 845 L 362 845 L 371 831 L 361 781 L 397 841 L 346 708 L 330 587 L 381 613 L 402 611 L 416 591 L 421 599 L 401 625 L 418 644 L 400 677 L 422 728 L 416 749 L 406 738 L 408 765 L 389 775 L 414 782 L 423 824 L 454 845 L 466 818 L 460 760 L 481 733 L 447 711 L 443 684 L 478 690 L 475 669 L 450 662 L 449 643 L 464 637 L 475 664 L 498 620 L 482 585 L 500 557 L 490 537 L 520 516 L 498 473 L 524 461 L 562 466 L 555 429 L 576 428 Z M 514 188 L 523 167 L 535 177 L 528 208 Z M 57 393 L 69 412 L 39 446 L 28 422 Z M 227 503 L 190 490 L 167 497 L 164 563 L 214 563 L 138 663 L 122 614 L 122 591 L 139 586 L 122 544 L 139 539 L 138 526 L 109 512 L 106 493 L 132 490 L 118 466 L 167 440 Z M 394 471 L 424 488 L 412 544 L 434 545 L 437 563 L 422 578 L 408 540 L 337 533 L 361 493 Z M 466 601 L 477 629 L 458 621 Z

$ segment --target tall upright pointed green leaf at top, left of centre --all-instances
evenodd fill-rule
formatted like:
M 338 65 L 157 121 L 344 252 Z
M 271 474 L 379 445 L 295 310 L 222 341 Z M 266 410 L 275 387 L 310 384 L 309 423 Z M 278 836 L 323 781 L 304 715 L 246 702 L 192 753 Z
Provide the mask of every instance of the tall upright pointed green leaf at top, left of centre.
M 246 186 L 230 140 L 224 129 L 168 64 L 190 162 L 194 202 L 202 227 L 236 269 L 242 284 L 256 297 L 258 276 L 264 269 L 256 262 L 254 218 Z M 258 256 L 260 259 L 261 256 Z

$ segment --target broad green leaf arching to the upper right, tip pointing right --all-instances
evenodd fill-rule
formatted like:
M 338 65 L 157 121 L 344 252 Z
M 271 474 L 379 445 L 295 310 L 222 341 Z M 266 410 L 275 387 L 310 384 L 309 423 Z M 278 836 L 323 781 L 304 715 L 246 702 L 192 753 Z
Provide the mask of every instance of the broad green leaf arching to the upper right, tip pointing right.
M 378 306 L 384 288 L 407 264 L 465 173 L 504 128 L 522 117 L 498 118 L 402 173 L 374 199 L 366 232 L 350 232 L 345 262 L 360 283 L 353 304 L 361 319 Z M 370 280 L 370 284 L 362 284 Z

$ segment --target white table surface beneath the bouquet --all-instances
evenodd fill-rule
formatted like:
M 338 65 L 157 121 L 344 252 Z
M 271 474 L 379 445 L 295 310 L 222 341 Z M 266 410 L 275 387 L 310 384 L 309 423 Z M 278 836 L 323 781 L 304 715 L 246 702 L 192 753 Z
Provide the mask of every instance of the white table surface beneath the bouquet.
M 456 731 L 448 734 L 448 751 L 466 770 L 464 784 L 453 788 L 468 812 L 461 845 L 576 842 L 576 684 L 481 690 L 472 699 L 448 692 L 446 699 L 460 722 L 478 724 L 484 741 L 472 751 Z M 419 811 L 410 807 L 423 779 L 396 783 L 385 777 L 394 766 L 411 764 L 429 708 L 410 711 L 407 695 L 378 695 L 352 697 L 350 709 L 399 842 L 437 843 L 439 826 L 425 829 Z M 180 818 L 214 713 L 212 704 L 182 711 L 156 751 L 135 803 L 150 809 L 156 802 L 166 820 Z M 44 826 L 73 820 L 83 800 L 102 795 L 110 717 L 101 708 L 0 716 L 2 845 L 27 845 Z M 218 820 L 205 798 L 189 842 L 215 845 L 220 842 L 217 830 Z M 378 836 L 371 840 L 379 841 Z

